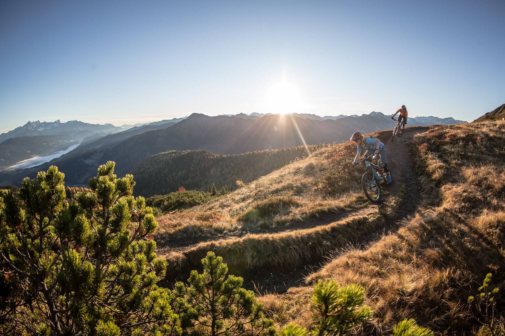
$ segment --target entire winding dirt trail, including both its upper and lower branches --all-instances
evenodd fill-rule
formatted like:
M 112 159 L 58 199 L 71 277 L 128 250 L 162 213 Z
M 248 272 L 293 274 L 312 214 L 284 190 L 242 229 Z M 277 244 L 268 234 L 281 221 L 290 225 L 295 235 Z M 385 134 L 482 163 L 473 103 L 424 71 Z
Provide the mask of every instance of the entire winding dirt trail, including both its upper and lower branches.
M 356 241 L 349 241 L 347 246 L 331 250 L 326 255 L 322 255 L 320 260 L 315 260 L 310 264 L 298 267 L 290 272 L 280 273 L 278 270 L 275 270 L 270 273 L 268 270 L 250 270 L 239 274 L 244 278 L 243 286 L 247 289 L 256 290 L 260 294 L 272 292 L 283 293 L 290 287 L 304 285 L 306 276 L 320 268 L 329 257 L 334 257 L 335 255 L 343 253 L 351 247 L 367 248 L 370 244 L 379 240 L 383 235 L 396 232 L 410 216 L 415 214 L 421 203 L 421 186 L 414 172 L 412 158 L 409 153 L 409 143 L 417 133 L 424 132 L 426 129 L 427 127 L 406 128 L 400 137 L 395 137 L 393 142 L 391 142 L 391 132 L 379 136 L 387 148 L 387 159 L 393 178 L 393 183 L 391 185 L 383 185 L 383 201 L 387 201 L 390 196 L 398 192 L 402 185 L 405 185 L 405 197 L 402 199 L 394 218 L 387 221 L 384 226 L 377 230 L 362 235 L 359 239 L 356 239 Z M 285 226 L 258 230 L 254 233 L 270 234 L 326 226 L 350 217 L 375 214 L 379 211 L 380 206 L 380 204 L 375 205 L 370 203 L 355 210 L 328 213 L 317 219 L 293 222 Z M 165 255 L 169 252 L 184 253 L 203 242 L 238 238 L 245 234 L 247 233 L 237 232 L 214 237 L 170 239 L 163 242 L 163 246 L 160 246 L 157 253 L 158 255 Z

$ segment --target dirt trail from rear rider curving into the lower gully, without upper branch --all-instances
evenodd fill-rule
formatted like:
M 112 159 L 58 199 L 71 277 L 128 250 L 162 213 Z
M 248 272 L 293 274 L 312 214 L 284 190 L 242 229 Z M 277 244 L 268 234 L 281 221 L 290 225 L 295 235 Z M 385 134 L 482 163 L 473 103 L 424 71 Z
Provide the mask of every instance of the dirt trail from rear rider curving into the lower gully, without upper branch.
M 366 249 L 374 242 L 378 241 L 383 235 L 396 232 L 410 216 L 416 213 L 421 204 L 421 184 L 414 171 L 414 164 L 409 153 L 409 142 L 418 133 L 426 129 L 405 129 L 403 134 L 391 142 L 391 133 L 381 136 L 381 141 L 387 148 L 388 165 L 392 172 L 393 183 L 383 188 L 383 200 L 386 201 L 389 196 L 398 192 L 401 185 L 405 185 L 405 197 L 401 201 L 399 210 L 395 218 L 388 221 L 382 228 L 372 231 L 369 234 L 360 237 L 357 241 L 349 241 L 348 246 L 331 251 L 324 256 L 321 261 L 313 262 L 297 268 L 296 270 L 278 273 L 251 270 L 241 275 L 244 278 L 244 287 L 255 290 L 259 294 L 264 293 L 283 293 L 290 287 L 302 286 L 305 284 L 305 277 L 317 271 L 325 264 L 329 257 L 333 258 L 340 253 L 344 253 L 349 248 Z M 378 206 L 374 206 L 377 210 Z

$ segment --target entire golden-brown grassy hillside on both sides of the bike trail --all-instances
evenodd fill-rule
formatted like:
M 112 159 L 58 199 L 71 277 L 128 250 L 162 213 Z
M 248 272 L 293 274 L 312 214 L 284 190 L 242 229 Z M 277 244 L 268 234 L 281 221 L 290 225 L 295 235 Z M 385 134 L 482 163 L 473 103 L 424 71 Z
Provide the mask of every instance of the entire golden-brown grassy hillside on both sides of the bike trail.
M 486 273 L 493 286 L 505 276 L 505 171 L 495 150 L 505 147 L 504 126 L 409 127 L 399 143 L 379 135 L 395 183 L 379 207 L 363 199 L 347 142 L 165 215 L 155 239 L 170 261 L 167 279 L 184 277 L 212 250 L 264 293 L 278 325 L 312 325 L 312 286 L 333 279 L 366 290 L 374 320 L 358 334 L 384 334 L 403 318 L 436 334 L 473 334 L 479 315 L 468 296 Z

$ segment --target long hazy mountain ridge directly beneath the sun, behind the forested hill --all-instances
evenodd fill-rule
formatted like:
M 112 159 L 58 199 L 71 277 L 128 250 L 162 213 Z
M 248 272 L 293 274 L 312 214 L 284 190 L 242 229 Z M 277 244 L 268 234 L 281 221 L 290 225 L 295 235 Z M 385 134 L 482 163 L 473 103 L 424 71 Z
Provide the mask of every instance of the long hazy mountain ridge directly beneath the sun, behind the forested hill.
M 99 139 L 85 139 L 79 147 L 49 163 L 0 172 L 0 185 L 19 184 L 23 177 L 34 177 L 38 171 L 46 170 L 52 164 L 65 173 L 67 184 L 84 185 L 96 174 L 98 165 L 108 160 L 116 162 L 116 173 L 121 176 L 148 156 L 167 151 L 206 150 L 215 154 L 239 154 L 301 146 L 304 141 L 308 145 L 341 142 L 348 140 L 355 130 L 368 133 L 394 125 L 390 116 L 380 112 L 333 118 L 318 120 L 258 114 L 211 117 L 193 113 L 176 123 L 151 123 Z M 423 118 L 410 118 L 409 125 L 460 122 L 452 118 Z

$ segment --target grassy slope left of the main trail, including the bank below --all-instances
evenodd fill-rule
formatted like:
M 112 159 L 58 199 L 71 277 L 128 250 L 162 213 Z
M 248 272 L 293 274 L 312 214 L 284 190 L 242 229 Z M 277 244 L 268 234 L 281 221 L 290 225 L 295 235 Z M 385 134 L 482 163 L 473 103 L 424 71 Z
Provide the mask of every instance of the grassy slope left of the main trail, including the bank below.
M 212 203 L 158 218 L 155 239 L 169 260 L 168 277 L 199 267 L 208 250 L 222 255 L 234 271 L 289 270 L 380 228 L 395 214 L 401 195 L 379 208 L 370 206 L 361 190 L 363 168 L 350 166 L 355 146 L 325 147 Z M 211 241 L 167 248 L 202 236 Z

